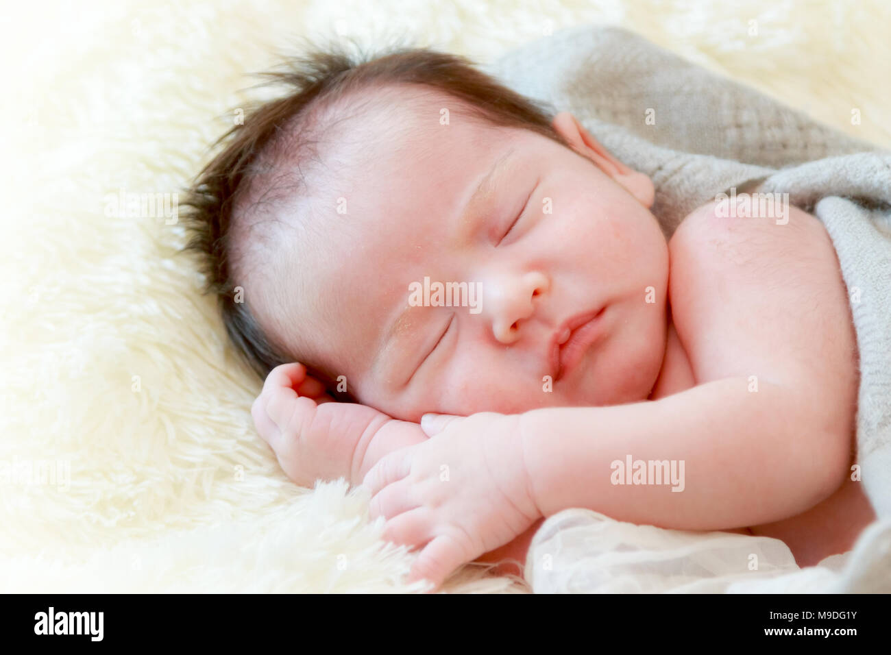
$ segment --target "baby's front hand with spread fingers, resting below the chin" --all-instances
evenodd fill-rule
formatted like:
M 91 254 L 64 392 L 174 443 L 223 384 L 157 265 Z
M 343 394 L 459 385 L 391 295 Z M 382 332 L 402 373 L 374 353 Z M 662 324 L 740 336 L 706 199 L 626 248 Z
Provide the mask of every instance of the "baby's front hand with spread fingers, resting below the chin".
M 429 415 L 428 415 L 429 416 Z M 540 512 L 529 494 L 519 415 L 422 421 L 427 441 L 383 457 L 363 480 L 383 539 L 424 546 L 411 581 L 438 587 L 463 563 L 511 542 Z

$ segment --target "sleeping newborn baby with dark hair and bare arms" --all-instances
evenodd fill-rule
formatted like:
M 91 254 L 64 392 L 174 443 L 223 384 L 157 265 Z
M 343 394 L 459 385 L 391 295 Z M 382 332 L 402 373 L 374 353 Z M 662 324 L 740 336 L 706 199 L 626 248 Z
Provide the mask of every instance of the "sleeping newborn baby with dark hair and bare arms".
M 298 484 L 364 483 L 421 549 L 413 579 L 525 561 L 569 507 L 773 536 L 801 566 L 874 520 L 815 217 L 709 203 L 666 241 L 649 177 L 453 55 L 315 53 L 279 78 L 293 93 L 196 181 L 190 246 L 266 375 L 259 434 Z M 437 282 L 462 292 L 418 293 Z

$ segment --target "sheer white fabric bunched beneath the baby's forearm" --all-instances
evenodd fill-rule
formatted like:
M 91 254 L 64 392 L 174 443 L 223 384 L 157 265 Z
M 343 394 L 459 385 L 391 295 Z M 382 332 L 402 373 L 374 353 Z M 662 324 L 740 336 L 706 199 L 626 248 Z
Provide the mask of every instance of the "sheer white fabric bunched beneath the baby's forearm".
M 535 534 L 525 576 L 538 594 L 838 593 L 849 554 L 801 569 L 779 539 L 638 526 L 571 509 Z

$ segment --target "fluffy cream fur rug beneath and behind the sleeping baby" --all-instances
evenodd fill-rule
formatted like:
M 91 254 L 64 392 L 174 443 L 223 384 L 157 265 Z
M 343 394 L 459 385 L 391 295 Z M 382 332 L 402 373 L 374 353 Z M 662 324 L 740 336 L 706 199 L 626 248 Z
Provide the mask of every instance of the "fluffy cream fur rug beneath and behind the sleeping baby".
M 398 0 L 10 11 L 6 61 L 30 66 L 12 67 L 4 89 L 11 248 L 0 273 L 12 285 L 0 294 L 2 591 L 421 588 L 402 582 L 413 555 L 380 541 L 367 497 L 343 482 L 295 487 L 257 438 L 249 407 L 260 382 L 227 347 L 192 262 L 176 255 L 182 226 L 114 206 L 121 189 L 181 191 L 231 110 L 256 95 L 240 91 L 254 84 L 244 73 L 268 69 L 292 37 L 340 33 L 372 46 L 407 37 L 487 62 L 548 29 L 612 23 L 891 145 L 882 0 L 460 0 L 446 14 Z M 62 479 L 41 483 L 44 472 Z M 446 590 L 526 587 L 466 567 Z

